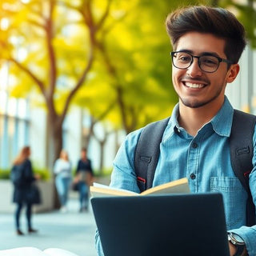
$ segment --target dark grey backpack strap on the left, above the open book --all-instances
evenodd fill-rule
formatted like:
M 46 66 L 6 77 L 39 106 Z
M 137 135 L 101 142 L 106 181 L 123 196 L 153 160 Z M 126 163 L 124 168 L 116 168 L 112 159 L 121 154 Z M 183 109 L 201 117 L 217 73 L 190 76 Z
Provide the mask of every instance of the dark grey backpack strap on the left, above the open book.
M 160 143 L 169 118 L 152 122 L 145 126 L 138 138 L 134 151 L 134 168 L 137 175 L 138 187 L 142 191 L 153 184 L 154 171 L 158 164 Z

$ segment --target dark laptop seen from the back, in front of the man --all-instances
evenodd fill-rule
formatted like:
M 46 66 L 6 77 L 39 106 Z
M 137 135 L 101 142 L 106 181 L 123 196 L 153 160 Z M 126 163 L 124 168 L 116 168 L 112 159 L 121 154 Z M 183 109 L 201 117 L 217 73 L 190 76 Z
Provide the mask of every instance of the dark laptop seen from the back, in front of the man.
M 222 194 L 91 199 L 105 256 L 229 256 Z

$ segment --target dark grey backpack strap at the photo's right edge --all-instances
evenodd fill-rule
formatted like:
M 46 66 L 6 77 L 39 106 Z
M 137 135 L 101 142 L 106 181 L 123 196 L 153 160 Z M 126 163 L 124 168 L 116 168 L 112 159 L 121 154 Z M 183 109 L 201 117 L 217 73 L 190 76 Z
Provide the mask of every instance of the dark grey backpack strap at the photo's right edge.
M 230 159 L 234 174 L 247 191 L 247 226 L 255 224 L 255 206 L 249 188 L 249 174 L 253 169 L 253 136 L 256 116 L 234 110 L 230 134 Z

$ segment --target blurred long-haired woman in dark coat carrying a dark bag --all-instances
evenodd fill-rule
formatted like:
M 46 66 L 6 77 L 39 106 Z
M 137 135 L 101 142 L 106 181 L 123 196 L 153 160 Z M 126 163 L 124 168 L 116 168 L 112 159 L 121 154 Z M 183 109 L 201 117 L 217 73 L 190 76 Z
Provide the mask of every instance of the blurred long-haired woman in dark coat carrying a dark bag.
M 34 175 L 32 164 L 30 162 L 30 146 L 24 146 L 18 157 L 14 159 L 11 168 L 11 179 L 14 183 L 14 198 L 13 202 L 17 203 L 17 208 L 14 214 L 16 232 L 18 235 L 23 235 L 20 228 L 20 215 L 22 207 L 26 205 L 26 221 L 28 233 L 36 233 L 31 223 L 32 205 L 40 203 L 39 191 L 34 186 L 34 182 L 40 178 L 39 175 Z M 35 193 L 34 193 L 35 192 Z

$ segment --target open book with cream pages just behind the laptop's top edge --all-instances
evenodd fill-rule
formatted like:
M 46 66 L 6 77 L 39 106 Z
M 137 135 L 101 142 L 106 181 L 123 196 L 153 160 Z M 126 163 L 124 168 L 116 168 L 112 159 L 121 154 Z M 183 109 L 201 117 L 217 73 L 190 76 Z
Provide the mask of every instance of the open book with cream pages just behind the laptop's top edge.
M 190 187 L 187 178 L 181 178 L 174 182 L 168 182 L 159 186 L 154 186 L 149 190 L 143 191 L 141 194 L 130 190 L 122 190 L 114 187 L 102 185 L 94 182 L 94 186 L 90 186 L 90 194 L 92 197 L 104 196 L 129 196 L 129 195 L 150 195 L 150 194 L 171 194 L 171 193 L 190 193 Z

